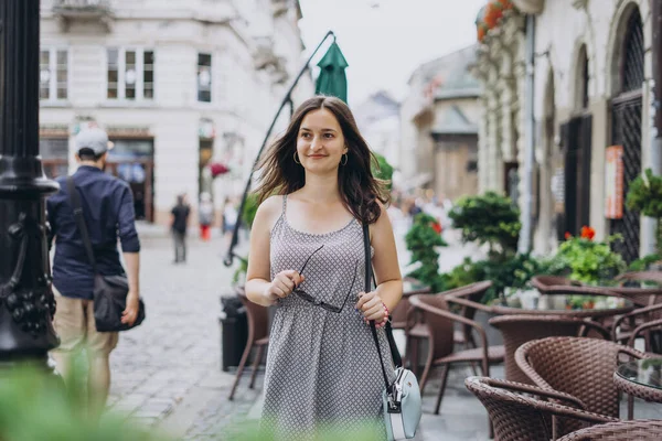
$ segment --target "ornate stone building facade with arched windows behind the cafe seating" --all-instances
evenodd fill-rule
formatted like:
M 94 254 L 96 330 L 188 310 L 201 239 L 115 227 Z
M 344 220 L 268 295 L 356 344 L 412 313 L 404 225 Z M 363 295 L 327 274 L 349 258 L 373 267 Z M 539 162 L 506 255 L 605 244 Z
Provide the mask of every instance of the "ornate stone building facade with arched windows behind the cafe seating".
M 623 194 L 650 166 L 651 19 L 648 0 L 513 0 L 479 44 L 479 186 L 523 203 L 525 127 L 534 118 L 534 249 L 590 225 L 620 233 L 632 260 L 648 252 L 647 220 L 606 214 L 606 151 L 623 148 Z M 526 19 L 534 15 L 533 115 L 526 104 Z

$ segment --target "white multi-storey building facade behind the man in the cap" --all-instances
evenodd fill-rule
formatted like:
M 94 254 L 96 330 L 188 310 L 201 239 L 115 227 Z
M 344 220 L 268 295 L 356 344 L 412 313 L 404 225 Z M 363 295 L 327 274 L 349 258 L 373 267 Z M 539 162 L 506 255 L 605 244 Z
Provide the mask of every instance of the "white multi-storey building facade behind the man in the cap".
M 221 208 L 302 67 L 300 18 L 296 0 L 43 0 L 46 174 L 73 170 L 74 137 L 94 123 L 115 143 L 108 172 L 131 184 L 139 218 L 166 223 L 181 193 L 194 206 L 212 193 Z M 295 105 L 312 92 L 307 75 Z M 212 180 L 214 162 L 229 172 Z

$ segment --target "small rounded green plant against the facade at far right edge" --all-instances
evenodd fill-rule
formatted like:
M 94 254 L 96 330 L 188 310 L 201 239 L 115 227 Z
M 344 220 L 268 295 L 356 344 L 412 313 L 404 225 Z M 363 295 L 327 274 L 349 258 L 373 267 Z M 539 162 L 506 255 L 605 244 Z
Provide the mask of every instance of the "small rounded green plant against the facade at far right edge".
M 651 169 L 630 183 L 626 205 L 632 211 L 652 217 L 656 222 L 656 254 L 662 256 L 662 176 L 653 174 Z M 656 262 L 660 266 L 660 260 Z

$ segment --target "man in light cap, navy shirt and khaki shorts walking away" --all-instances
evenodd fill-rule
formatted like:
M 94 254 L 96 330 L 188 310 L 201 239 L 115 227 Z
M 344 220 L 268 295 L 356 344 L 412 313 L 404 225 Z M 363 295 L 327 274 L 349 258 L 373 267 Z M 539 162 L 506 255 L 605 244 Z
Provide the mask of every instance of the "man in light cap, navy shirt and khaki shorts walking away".
M 78 170 L 73 175 L 79 193 L 83 217 L 92 243 L 97 271 L 104 276 L 125 273 L 119 259 L 117 239 L 121 243 L 129 281 L 127 306 L 122 322 L 134 324 L 140 295 L 140 241 L 136 232 L 134 197 L 129 185 L 104 173 L 108 154 L 108 136 L 99 128 L 83 130 L 76 137 Z M 103 411 L 110 388 L 109 355 L 117 345 L 116 332 L 97 332 L 94 321 L 94 271 L 85 252 L 81 232 L 66 185 L 66 176 L 57 180 L 60 191 L 46 201 L 51 225 L 49 245 L 55 237 L 53 292 L 57 311 L 53 320 L 60 335 L 60 347 L 52 352 L 57 370 L 70 379 L 73 355 L 86 348 L 88 372 L 88 408 L 92 415 Z

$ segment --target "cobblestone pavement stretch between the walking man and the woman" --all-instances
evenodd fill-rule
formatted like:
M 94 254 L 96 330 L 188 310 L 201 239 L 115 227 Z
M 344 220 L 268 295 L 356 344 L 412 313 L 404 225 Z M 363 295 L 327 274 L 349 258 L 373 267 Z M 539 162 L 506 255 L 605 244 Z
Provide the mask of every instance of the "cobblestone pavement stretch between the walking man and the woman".
M 168 238 L 141 239 L 147 320 L 122 333 L 111 355 L 108 402 L 148 424 L 172 419 L 169 432 L 180 437 L 195 418 L 196 406 L 204 406 L 206 397 L 226 397 L 234 379 L 221 372 L 218 327 L 218 299 L 229 292 L 233 270 L 222 262 L 220 238 L 190 240 L 185 265 L 172 263 Z M 217 415 L 234 410 L 242 406 L 217 409 Z

